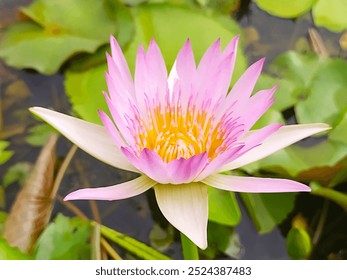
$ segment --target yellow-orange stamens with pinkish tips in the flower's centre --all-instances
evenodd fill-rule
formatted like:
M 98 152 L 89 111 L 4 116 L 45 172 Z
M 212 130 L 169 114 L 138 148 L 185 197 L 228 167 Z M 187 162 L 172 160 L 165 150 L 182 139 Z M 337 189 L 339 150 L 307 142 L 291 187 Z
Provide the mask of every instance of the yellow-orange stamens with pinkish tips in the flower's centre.
M 236 124 L 230 116 L 223 116 L 217 122 L 208 110 L 196 106 L 188 105 L 185 111 L 180 105 L 157 106 L 148 111 L 148 120 L 137 118 L 137 121 L 137 151 L 153 150 L 166 163 L 204 152 L 212 160 L 234 143 L 230 141 L 233 133 L 226 129 Z

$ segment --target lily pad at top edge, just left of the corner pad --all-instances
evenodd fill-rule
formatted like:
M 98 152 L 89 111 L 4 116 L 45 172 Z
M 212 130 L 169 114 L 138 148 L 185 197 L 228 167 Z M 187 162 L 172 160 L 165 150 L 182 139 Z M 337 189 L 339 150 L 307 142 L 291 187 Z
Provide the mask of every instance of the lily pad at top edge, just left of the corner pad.
M 308 12 L 316 0 L 256 0 L 258 7 L 270 15 L 296 18 Z

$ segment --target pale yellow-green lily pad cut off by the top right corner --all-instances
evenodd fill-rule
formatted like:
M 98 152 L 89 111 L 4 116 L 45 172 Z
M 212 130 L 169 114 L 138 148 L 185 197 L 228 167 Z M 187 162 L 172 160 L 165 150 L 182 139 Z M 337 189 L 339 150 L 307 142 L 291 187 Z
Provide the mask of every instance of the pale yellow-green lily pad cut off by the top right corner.
M 312 8 L 315 25 L 323 26 L 334 32 L 347 28 L 347 1 L 319 0 Z

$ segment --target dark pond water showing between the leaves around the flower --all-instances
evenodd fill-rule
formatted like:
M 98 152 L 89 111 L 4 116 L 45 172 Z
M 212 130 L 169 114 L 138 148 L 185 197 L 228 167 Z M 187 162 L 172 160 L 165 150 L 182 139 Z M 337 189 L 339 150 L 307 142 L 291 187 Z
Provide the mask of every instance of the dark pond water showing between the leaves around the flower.
M 17 20 L 16 7 L 27 5 L 30 2 L 28 0 L 0 0 L 0 28 Z M 266 65 L 269 65 L 278 54 L 288 49 L 294 49 L 299 38 L 307 38 L 307 28 L 312 26 L 309 18 L 292 21 L 271 17 L 254 4 L 248 3 L 249 5 L 247 5 L 247 2 L 244 1 L 245 8 L 238 16 L 240 25 L 245 28 L 250 41 L 245 46 L 249 63 L 266 56 Z M 319 31 L 324 38 L 328 38 L 326 44 L 330 52 L 336 55 L 338 36 L 325 30 Z M 23 130 L 9 138 L 10 148 L 15 151 L 15 155 L 8 163 L 1 166 L 0 177 L 2 177 L 9 166 L 22 161 L 34 162 L 39 153 L 39 148 L 28 146 L 24 141 L 28 128 L 37 123 L 27 108 L 43 106 L 68 113 L 70 105 L 64 94 L 62 75 L 44 76 L 32 71 L 18 71 L 5 66 L 1 61 L 0 94 L 4 127 L 11 129 L 17 127 Z M 68 141 L 61 138 L 58 143 L 58 155 L 65 156 L 70 146 Z M 90 186 L 111 185 L 133 177 L 134 174 L 111 168 L 84 152 L 78 151 L 61 184 L 59 194 L 65 196 L 71 190 L 84 187 L 86 184 Z M 18 186 L 11 186 L 7 189 L 7 210 L 9 210 L 17 190 Z M 308 203 L 305 199 L 303 198 L 304 204 Z M 319 207 L 321 201 L 318 200 L 315 203 Z M 87 216 L 92 217 L 88 202 L 76 202 L 76 205 L 83 209 Z M 97 205 L 105 225 L 147 244 L 150 243 L 149 233 L 154 223 L 167 226 L 154 203 L 152 192 L 124 201 L 98 202 Z M 300 203 L 298 207 L 300 207 Z M 72 215 L 69 210 L 56 202 L 53 216 L 58 212 Z M 285 239 L 279 229 L 275 229 L 269 234 L 258 235 L 244 209 L 242 209 L 242 215 L 242 221 L 237 226 L 242 244 L 239 252 L 241 259 L 288 259 Z M 346 215 L 342 216 L 342 219 L 346 220 Z M 282 230 L 285 231 L 286 226 L 288 225 L 283 225 Z M 347 246 L 341 247 L 347 248 Z M 179 242 L 176 241 L 171 245 L 166 253 L 173 258 L 181 258 Z

